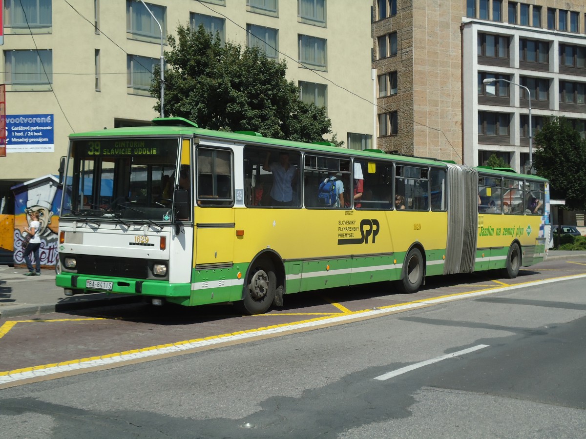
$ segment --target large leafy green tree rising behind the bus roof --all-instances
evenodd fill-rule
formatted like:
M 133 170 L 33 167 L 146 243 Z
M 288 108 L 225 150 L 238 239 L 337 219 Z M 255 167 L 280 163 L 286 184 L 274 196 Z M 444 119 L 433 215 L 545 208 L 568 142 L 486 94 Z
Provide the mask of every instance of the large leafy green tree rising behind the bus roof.
M 256 47 L 222 44 L 203 26 L 179 25 L 177 38 L 169 35 L 168 42 L 165 115 L 189 119 L 200 128 L 255 131 L 300 142 L 323 141 L 332 133 L 325 109 L 302 102 L 297 85 L 285 78 L 285 61 L 270 60 Z M 159 97 L 159 90 L 156 71 L 151 95 Z M 161 102 L 154 108 L 160 112 Z

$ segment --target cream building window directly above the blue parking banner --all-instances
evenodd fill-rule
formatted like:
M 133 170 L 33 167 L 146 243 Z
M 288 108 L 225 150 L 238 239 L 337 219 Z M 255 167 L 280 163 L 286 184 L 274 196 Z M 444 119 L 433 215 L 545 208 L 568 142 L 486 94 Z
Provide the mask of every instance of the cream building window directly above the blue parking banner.
M 53 53 L 51 50 L 6 50 L 4 52 L 4 81 L 12 85 L 53 83 Z

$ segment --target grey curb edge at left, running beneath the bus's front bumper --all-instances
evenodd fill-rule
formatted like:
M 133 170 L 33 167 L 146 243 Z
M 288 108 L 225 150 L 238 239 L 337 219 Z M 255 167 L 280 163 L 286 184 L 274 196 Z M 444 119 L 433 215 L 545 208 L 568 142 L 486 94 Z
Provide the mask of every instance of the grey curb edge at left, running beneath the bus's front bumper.
M 74 296 L 75 297 L 75 296 Z M 83 296 L 80 296 L 80 298 Z M 137 296 L 107 297 L 104 299 L 79 300 L 71 303 L 56 304 L 27 304 L 27 305 L 7 305 L 0 307 L 0 318 L 21 317 L 22 315 L 36 315 L 49 313 L 63 313 L 66 311 L 84 310 L 90 308 L 99 308 L 110 305 L 124 305 L 136 303 L 142 300 Z

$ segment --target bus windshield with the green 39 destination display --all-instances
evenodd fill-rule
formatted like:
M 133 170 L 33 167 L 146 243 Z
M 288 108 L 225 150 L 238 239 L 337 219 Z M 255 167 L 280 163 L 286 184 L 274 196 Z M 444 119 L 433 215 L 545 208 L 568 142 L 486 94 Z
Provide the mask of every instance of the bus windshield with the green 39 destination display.
M 172 221 L 179 139 L 71 142 L 63 217 Z

